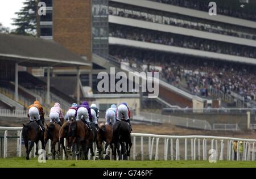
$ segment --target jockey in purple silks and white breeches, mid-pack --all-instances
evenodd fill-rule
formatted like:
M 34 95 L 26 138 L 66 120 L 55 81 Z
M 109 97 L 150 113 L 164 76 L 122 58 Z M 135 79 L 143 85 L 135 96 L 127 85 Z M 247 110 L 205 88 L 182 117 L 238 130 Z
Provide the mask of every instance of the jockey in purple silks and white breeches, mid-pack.
M 92 128 L 90 127 L 92 113 L 90 112 L 90 107 L 87 101 L 82 102 L 82 104 L 77 107 L 75 116 L 77 121 L 84 117 L 86 125 L 88 126 L 89 130 L 92 131 Z

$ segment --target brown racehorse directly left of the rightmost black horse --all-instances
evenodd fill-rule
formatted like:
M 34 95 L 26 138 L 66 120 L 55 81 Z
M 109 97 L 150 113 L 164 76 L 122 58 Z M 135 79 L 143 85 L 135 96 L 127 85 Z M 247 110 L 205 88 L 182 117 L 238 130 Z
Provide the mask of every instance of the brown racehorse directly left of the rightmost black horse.
M 97 139 L 99 144 L 98 151 L 99 151 L 100 157 L 102 158 L 102 151 L 104 151 L 104 147 L 103 147 L 104 141 L 106 142 L 104 154 L 106 154 L 106 151 L 109 145 L 112 151 L 114 151 L 113 145 L 112 145 L 113 129 L 112 129 L 112 125 L 105 125 L 105 123 L 101 123 L 99 127 L 100 129 L 98 130 L 98 134 L 97 134 Z

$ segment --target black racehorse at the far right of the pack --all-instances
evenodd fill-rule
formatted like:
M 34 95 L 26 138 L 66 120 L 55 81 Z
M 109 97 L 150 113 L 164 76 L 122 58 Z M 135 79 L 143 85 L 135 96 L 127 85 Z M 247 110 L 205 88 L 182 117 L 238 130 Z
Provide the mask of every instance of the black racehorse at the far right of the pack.
M 122 151 L 126 147 L 126 155 L 130 156 L 131 146 L 131 127 L 126 121 L 117 121 L 113 125 L 113 143 L 114 143 L 114 160 L 117 159 L 117 153 L 120 160 L 119 144 L 122 146 Z M 124 152 L 123 152 L 124 154 Z

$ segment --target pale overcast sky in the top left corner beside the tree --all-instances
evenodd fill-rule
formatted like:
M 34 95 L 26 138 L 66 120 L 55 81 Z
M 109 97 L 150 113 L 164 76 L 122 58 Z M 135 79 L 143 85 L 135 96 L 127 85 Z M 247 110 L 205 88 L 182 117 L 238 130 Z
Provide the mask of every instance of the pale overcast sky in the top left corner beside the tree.
M 12 18 L 16 18 L 15 12 L 18 12 L 25 0 L 1 0 L 0 1 L 0 23 L 5 27 L 9 27 L 11 29 L 15 28 L 15 26 L 11 25 L 13 23 Z

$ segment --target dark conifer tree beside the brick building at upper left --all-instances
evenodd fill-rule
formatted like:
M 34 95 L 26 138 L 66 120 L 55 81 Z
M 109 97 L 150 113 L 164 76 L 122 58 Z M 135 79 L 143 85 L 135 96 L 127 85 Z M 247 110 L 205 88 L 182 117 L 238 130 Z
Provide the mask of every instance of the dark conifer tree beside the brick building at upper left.
M 26 0 L 23 2 L 23 7 L 19 12 L 15 12 L 18 18 L 13 19 L 13 25 L 17 28 L 12 33 L 17 35 L 36 35 L 36 11 L 37 11 L 37 0 Z

